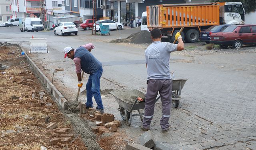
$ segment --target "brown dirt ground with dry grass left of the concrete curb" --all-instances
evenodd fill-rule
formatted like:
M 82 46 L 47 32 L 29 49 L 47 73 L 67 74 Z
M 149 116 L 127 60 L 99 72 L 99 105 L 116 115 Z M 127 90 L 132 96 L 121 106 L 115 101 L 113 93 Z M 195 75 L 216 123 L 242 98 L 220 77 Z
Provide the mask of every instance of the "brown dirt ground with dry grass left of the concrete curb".
M 44 147 L 47 150 L 97 150 L 91 146 L 96 142 L 103 150 L 125 148 L 126 141 L 122 140 L 124 134 L 121 131 L 90 133 L 95 143 L 86 142 L 92 137 L 86 132 L 77 132 L 74 121 L 60 110 L 51 93 L 34 76 L 20 48 L 17 45 L 0 48 L 0 64 L 9 66 L 0 71 L 0 150 L 46 150 Z M 80 116 L 83 124 L 87 124 L 87 120 L 95 121 L 88 114 L 83 117 L 78 113 L 75 115 Z M 49 129 L 51 122 L 56 127 Z M 71 140 L 58 144 L 50 142 L 54 137 L 70 137 L 58 132 L 64 128 L 65 135 L 72 135 Z

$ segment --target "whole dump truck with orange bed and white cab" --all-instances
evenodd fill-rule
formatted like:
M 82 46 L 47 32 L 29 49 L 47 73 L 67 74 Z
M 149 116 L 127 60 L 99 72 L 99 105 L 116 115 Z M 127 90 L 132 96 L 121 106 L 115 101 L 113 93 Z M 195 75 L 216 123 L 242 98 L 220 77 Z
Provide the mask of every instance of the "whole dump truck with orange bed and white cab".
M 147 6 L 147 27 L 159 28 L 162 38 L 174 42 L 183 26 L 182 39 L 197 42 L 201 30 L 220 24 L 244 24 L 241 2 L 208 2 L 194 4 L 160 4 Z

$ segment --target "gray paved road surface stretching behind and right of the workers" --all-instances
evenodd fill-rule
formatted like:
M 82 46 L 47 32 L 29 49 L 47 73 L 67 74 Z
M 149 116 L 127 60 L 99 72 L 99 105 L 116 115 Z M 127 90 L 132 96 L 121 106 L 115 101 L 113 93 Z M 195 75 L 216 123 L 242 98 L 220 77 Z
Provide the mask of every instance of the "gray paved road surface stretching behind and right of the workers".
M 96 47 L 92 54 L 103 64 L 102 90 L 138 88 L 146 91 L 145 48 L 108 42 L 126 38 L 138 30 L 111 31 L 110 36 L 92 36 L 91 30 L 79 30 L 77 36 L 55 36 L 53 31 L 20 32 L 18 27 L 5 27 L 0 28 L 0 42 L 20 43 L 28 50 L 32 35 L 47 38 L 50 53 L 29 56 L 48 78 L 55 68 L 64 68 L 54 74 L 54 84 L 61 87 L 60 92 L 64 92 L 67 99 L 74 99 L 76 92 L 72 89 L 77 84 L 74 62 L 64 59 L 62 50 L 89 42 Z M 250 52 L 236 50 L 231 54 L 171 54 L 170 67 L 176 79 L 188 80 L 182 89 L 180 106 L 171 110 L 171 130 L 165 134 L 159 126 L 161 105 L 156 104 L 151 129 L 156 140 L 177 149 L 255 150 L 256 49 L 249 48 Z M 114 98 L 109 96 L 108 100 L 104 102 L 106 111 L 120 119 Z M 140 125 L 139 117 L 134 117 L 132 126 L 122 126 L 122 130 L 138 142 L 143 133 Z

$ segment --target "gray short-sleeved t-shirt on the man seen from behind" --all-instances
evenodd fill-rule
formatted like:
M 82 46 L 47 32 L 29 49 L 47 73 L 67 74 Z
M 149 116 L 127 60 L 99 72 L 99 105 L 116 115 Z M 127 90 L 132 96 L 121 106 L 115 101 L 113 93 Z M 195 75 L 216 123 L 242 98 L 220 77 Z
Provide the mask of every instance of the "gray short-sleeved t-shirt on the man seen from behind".
M 171 79 L 170 53 L 177 51 L 177 44 L 169 42 L 153 42 L 145 50 L 145 62 L 148 66 L 149 79 Z

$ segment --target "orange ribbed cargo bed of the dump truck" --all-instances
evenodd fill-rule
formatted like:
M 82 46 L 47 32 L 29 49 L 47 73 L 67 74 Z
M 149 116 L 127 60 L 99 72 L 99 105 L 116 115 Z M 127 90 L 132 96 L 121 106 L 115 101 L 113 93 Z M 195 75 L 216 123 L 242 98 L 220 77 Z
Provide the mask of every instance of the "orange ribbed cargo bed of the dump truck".
M 161 29 L 219 25 L 222 5 L 224 2 L 147 6 L 147 26 Z

